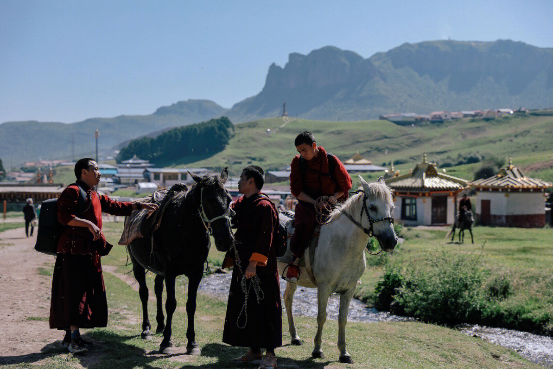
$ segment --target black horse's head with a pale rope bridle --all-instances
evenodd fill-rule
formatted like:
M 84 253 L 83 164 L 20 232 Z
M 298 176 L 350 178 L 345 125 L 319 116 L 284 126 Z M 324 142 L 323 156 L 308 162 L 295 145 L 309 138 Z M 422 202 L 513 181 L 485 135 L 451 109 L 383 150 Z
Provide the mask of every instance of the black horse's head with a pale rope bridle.
M 213 230 L 215 247 L 219 251 L 230 250 L 234 243 L 234 237 L 230 221 L 233 213 L 230 209 L 232 198 L 225 188 L 228 179 L 227 168 L 217 175 L 205 175 L 204 177 L 192 173 L 190 175 L 196 181 L 192 186 L 192 191 L 195 193 L 195 206 L 200 211 L 200 216 L 206 226 Z

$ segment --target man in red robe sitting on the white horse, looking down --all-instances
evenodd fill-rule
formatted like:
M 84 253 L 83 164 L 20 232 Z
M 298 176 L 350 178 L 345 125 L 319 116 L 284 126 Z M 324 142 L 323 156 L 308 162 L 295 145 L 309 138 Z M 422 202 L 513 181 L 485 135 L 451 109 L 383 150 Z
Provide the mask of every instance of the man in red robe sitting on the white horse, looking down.
M 297 283 L 300 276 L 297 264 L 316 226 L 316 200 L 327 196 L 332 205 L 346 200 L 352 183 L 342 162 L 328 154 L 322 146 L 317 147 L 311 132 L 298 134 L 294 145 L 299 152 L 290 164 L 290 192 L 298 198 L 294 221 L 296 230 L 290 241 L 294 260 L 288 265 L 283 278 Z

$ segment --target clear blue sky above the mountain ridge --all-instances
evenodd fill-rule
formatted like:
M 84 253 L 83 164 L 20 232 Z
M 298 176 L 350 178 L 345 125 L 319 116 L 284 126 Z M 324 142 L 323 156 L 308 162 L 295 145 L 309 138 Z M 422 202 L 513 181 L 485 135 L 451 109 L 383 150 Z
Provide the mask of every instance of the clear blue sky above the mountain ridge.
M 0 0 L 0 122 L 143 115 L 257 94 L 272 63 L 333 45 L 512 39 L 553 47 L 553 1 Z

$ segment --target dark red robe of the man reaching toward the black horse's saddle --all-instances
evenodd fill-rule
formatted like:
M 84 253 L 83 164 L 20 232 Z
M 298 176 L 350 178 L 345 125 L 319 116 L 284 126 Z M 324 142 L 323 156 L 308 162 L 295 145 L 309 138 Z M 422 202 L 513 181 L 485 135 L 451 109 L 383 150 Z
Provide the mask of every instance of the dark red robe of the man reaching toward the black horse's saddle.
M 132 203 L 113 201 L 98 195 L 79 181 L 87 192 L 86 211 L 76 216 L 90 220 L 102 229 L 102 212 L 131 215 Z M 65 225 L 58 241 L 58 254 L 52 280 L 50 328 L 69 329 L 105 327 L 107 325 L 106 287 L 100 257 L 108 254 L 112 245 L 102 237 L 93 241 L 85 227 L 67 226 L 75 217 L 79 187 L 68 186 L 58 199 L 58 220 Z

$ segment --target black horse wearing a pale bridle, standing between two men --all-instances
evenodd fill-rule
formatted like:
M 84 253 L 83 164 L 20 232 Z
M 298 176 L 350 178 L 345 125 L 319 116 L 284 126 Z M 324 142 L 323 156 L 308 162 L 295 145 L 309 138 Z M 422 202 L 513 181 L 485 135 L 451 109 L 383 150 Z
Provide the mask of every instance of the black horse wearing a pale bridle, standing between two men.
M 232 199 L 224 186 L 228 178 L 227 168 L 219 175 L 203 178 L 191 175 L 195 180 L 194 185 L 187 192 L 171 194 L 172 197 L 165 206 L 161 225 L 153 236 L 137 238 L 127 246 L 133 263 L 134 277 L 139 284 L 138 293 L 142 300 L 142 337 L 144 339 L 152 337 L 150 332 L 152 326 L 148 320 L 148 287 L 145 269 L 156 274 L 154 285 L 158 310 L 156 333 L 163 331 L 163 341 L 159 347 L 162 353 L 170 353 L 173 346 L 171 320 L 176 308 L 175 278 L 184 274 L 188 277 L 186 352 L 190 355 L 200 354 L 199 346 L 195 341 L 194 314 L 196 293 L 204 275 L 204 264 L 210 250 L 211 230 L 217 250 L 228 251 L 234 242 L 229 221 L 232 212 L 229 205 Z M 164 279 L 167 288 L 166 324 L 161 306 Z

